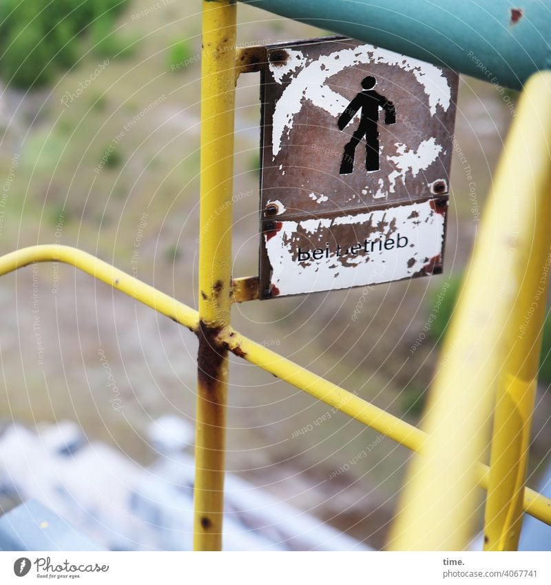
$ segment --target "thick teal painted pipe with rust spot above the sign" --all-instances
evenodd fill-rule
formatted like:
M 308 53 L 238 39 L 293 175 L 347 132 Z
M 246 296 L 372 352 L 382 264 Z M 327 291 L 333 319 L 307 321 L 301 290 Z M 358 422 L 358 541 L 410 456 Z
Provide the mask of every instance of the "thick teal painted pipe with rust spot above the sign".
M 551 0 L 241 1 L 503 87 L 551 69 Z

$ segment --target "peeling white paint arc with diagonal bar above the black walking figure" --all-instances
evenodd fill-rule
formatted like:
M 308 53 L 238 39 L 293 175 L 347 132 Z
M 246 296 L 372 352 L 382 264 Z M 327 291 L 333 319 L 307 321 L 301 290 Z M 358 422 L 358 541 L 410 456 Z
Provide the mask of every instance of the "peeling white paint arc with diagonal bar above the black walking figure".
M 289 59 L 285 65 L 270 64 L 270 71 L 277 83 L 283 83 L 287 74 L 298 70 L 293 81 L 283 90 L 282 96 L 275 104 L 272 121 L 274 159 L 281 150 L 284 134 L 289 136 L 295 115 L 300 112 L 306 101 L 310 101 L 335 117 L 346 109 L 349 100 L 331 90 L 326 83 L 331 76 L 347 67 L 373 63 L 396 65 L 415 75 L 415 79 L 428 98 L 428 107 L 432 115 L 436 114 L 438 105 L 444 112 L 450 107 L 451 89 L 448 80 L 439 68 L 430 63 L 404 57 L 404 55 L 375 48 L 372 45 L 338 50 L 310 63 L 306 63 L 306 58 L 300 51 L 291 49 L 286 49 L 286 51 L 289 53 Z

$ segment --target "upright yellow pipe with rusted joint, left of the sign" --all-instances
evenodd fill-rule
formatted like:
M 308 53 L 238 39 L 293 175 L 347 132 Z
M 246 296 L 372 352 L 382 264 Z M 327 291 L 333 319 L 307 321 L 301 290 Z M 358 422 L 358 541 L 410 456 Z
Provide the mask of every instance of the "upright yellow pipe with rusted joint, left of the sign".
M 230 322 L 231 196 L 236 6 L 202 3 L 199 351 L 194 548 L 222 549 L 227 351 L 216 333 Z

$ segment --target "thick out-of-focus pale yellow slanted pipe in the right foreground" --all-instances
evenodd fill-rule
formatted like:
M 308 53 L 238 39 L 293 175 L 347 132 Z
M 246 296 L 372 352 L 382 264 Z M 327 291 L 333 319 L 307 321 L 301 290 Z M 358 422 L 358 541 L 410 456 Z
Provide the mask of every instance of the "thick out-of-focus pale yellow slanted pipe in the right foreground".
M 549 217 L 550 87 L 551 72 L 530 79 L 501 157 L 431 389 L 426 440 L 393 526 L 389 547 L 395 550 L 457 551 L 475 532 L 477 461 L 507 358 L 505 333 L 532 254 L 537 214 L 542 222 Z

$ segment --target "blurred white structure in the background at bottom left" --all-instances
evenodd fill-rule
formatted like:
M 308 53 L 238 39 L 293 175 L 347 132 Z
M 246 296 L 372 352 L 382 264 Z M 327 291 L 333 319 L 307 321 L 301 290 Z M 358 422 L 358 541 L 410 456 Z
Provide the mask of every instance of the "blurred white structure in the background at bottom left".
M 39 433 L 10 424 L 0 435 L 0 495 L 38 500 L 111 550 L 191 550 L 194 459 L 183 449 L 193 437 L 183 419 L 156 420 L 149 440 L 160 456 L 144 468 L 72 422 Z M 224 531 L 227 551 L 369 550 L 231 474 Z

